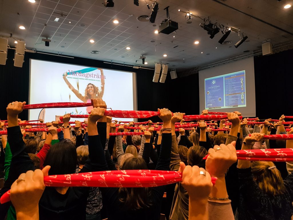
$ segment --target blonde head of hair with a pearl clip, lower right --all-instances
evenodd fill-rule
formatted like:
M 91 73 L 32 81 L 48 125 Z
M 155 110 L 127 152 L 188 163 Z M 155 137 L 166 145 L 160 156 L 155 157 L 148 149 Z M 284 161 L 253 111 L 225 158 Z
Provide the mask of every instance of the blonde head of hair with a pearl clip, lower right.
M 251 169 L 255 181 L 265 194 L 276 196 L 284 193 L 284 181 L 273 162 L 253 161 Z

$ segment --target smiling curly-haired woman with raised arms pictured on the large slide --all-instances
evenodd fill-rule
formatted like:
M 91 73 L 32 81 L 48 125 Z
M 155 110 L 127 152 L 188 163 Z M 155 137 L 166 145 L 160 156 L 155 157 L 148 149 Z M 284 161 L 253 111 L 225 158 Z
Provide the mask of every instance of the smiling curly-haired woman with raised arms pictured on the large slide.
M 64 74 L 63 79 L 66 82 L 69 89 L 79 98 L 81 101 L 86 103 L 91 103 L 91 99 L 102 99 L 104 95 L 104 86 L 105 86 L 105 79 L 104 79 L 104 72 L 102 69 L 98 69 L 101 71 L 101 89 L 96 87 L 94 84 L 89 83 L 86 86 L 84 91 L 84 96 L 80 94 L 80 92 L 75 89 L 71 83 L 67 79 L 67 72 Z M 93 109 L 93 106 L 86 107 L 86 112 L 90 112 Z

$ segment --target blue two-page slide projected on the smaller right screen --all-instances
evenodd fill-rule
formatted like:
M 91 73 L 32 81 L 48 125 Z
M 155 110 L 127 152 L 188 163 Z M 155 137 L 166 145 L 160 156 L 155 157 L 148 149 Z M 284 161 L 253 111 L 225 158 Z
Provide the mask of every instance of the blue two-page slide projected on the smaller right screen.
M 205 79 L 205 109 L 246 107 L 245 70 Z

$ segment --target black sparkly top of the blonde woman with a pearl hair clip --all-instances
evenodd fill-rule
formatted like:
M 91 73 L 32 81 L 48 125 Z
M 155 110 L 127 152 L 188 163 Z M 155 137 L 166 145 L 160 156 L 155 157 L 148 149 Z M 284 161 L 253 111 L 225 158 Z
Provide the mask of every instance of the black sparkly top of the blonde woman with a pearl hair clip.
M 238 169 L 239 220 L 290 220 L 293 214 L 293 174 L 284 179 L 285 192 L 270 196 L 253 180 L 251 168 Z

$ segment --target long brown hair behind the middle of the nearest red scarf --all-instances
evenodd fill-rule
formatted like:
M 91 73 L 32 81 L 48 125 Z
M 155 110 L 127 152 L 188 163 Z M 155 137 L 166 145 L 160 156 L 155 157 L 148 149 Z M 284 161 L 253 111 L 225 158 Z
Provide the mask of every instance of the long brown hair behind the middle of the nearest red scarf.
M 125 160 L 121 170 L 148 170 L 142 158 L 130 157 Z M 119 201 L 131 210 L 149 207 L 151 205 L 151 190 L 148 187 L 119 188 Z

